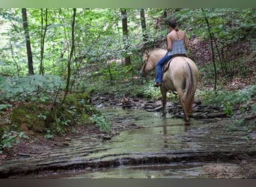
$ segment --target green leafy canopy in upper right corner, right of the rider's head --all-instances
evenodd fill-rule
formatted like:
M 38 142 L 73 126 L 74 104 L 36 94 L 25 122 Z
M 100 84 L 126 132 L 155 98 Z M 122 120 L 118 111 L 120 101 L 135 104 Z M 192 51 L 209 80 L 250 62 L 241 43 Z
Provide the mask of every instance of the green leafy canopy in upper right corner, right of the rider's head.
M 232 43 L 242 37 L 253 38 L 252 34 L 248 34 L 248 29 L 252 28 L 249 32 L 255 31 L 256 13 L 254 8 L 204 8 L 203 10 L 209 19 L 213 34 L 219 42 Z M 175 11 L 172 17 L 189 31 L 187 33 L 189 36 L 209 38 L 202 9 L 183 8 Z

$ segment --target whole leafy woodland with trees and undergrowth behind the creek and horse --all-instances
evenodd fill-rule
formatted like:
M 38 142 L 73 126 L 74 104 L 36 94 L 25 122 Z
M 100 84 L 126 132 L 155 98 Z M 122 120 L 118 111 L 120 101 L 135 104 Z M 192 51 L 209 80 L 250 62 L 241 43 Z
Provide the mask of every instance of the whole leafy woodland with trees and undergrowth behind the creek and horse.
M 108 132 L 92 96 L 159 99 L 154 73 L 138 72 L 146 49 L 165 48 L 168 19 L 189 37 L 196 98 L 254 116 L 255 8 L 0 9 L 0 153 L 28 131 L 52 138 L 95 123 Z

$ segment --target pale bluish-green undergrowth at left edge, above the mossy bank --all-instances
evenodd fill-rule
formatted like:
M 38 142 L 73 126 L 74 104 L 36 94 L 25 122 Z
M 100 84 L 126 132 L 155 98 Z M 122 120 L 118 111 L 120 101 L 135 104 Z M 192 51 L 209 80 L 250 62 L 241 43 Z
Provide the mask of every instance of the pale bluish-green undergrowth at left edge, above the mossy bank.
M 2 78 L 0 82 L 0 101 L 31 100 L 34 102 L 49 102 L 55 99 L 55 94 L 64 88 L 64 82 L 59 76 L 25 76 Z

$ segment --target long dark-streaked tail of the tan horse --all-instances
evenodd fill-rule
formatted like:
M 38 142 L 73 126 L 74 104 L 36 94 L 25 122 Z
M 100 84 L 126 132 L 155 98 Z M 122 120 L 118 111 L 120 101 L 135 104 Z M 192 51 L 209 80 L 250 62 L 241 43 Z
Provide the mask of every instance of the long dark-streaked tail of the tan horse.
M 186 78 L 186 88 L 182 99 L 185 102 L 186 108 L 189 110 L 189 108 L 192 107 L 192 102 L 194 102 L 193 99 L 196 85 L 194 85 L 193 79 L 196 78 L 193 78 L 192 67 L 188 61 L 186 61 L 184 64 L 184 73 Z

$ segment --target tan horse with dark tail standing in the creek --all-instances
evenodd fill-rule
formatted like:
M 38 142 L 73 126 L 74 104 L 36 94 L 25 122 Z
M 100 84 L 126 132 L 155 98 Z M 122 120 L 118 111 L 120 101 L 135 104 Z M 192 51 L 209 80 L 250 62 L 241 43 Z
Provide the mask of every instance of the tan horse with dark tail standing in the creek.
M 147 76 L 155 67 L 157 61 L 167 53 L 165 49 L 153 49 L 144 52 L 143 65 L 140 74 Z M 166 93 L 176 91 L 183 108 L 185 124 L 189 125 L 189 117 L 192 115 L 192 104 L 198 85 L 198 67 L 190 58 L 176 56 L 169 61 L 168 69 L 162 73 L 162 117 L 166 118 Z

